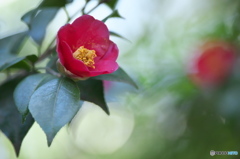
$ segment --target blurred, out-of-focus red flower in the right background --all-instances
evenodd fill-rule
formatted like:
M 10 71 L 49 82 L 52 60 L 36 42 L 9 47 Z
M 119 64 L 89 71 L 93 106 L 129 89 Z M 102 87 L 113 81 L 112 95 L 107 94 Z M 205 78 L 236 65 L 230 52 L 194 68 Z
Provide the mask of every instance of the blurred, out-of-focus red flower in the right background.
M 194 60 L 191 79 L 208 87 L 223 82 L 236 59 L 235 48 L 222 41 L 210 41 L 200 48 L 200 56 Z

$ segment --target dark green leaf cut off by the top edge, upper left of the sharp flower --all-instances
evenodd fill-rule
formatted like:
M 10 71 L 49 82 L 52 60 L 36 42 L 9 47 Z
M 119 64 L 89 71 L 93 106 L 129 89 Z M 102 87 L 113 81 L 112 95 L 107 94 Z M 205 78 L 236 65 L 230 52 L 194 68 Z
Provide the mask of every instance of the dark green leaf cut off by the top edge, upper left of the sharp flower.
M 44 0 L 39 7 L 64 7 L 73 0 Z

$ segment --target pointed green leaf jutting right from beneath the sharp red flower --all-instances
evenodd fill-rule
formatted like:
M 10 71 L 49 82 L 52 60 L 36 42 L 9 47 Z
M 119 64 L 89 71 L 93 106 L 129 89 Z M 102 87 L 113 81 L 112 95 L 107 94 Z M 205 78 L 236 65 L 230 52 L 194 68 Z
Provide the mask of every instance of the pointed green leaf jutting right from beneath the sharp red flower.
M 115 71 L 111 74 L 104 74 L 104 75 L 96 76 L 96 77 L 93 77 L 93 79 L 124 82 L 124 83 L 128 83 L 128 84 L 134 86 L 136 89 L 138 89 L 138 86 L 136 85 L 136 83 L 120 67 L 118 68 L 117 71 Z

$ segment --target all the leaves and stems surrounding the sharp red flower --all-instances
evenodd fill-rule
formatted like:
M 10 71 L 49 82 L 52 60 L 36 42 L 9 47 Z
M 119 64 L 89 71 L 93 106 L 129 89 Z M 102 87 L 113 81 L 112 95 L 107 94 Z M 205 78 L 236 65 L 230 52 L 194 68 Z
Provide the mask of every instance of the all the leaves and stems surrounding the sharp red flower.
M 43 0 L 35 9 L 24 14 L 21 20 L 28 30 L 0 39 L 0 71 L 7 78 L 0 84 L 0 129 L 12 142 L 16 154 L 19 154 L 21 143 L 36 121 L 47 136 L 50 146 L 58 131 L 70 123 L 81 108 L 83 101 L 90 101 L 110 114 L 104 98 L 103 80 L 126 82 L 137 88 L 134 81 L 119 68 L 116 72 L 76 81 L 61 75 L 57 71 L 55 39 L 44 52 L 41 52 L 43 40 L 47 37 L 46 29 L 58 11 L 65 9 L 72 0 Z M 113 11 L 104 21 L 113 17 L 121 17 L 115 10 L 117 0 L 99 1 Z M 79 8 L 85 13 L 83 8 Z M 68 17 L 68 23 L 72 18 Z M 120 37 L 117 33 L 116 36 Z M 25 39 L 31 38 L 37 45 L 38 55 L 18 53 L 25 45 Z M 46 67 L 38 67 L 46 58 L 51 60 Z M 42 72 L 45 70 L 45 73 Z M 19 114 L 20 113 L 20 114 Z M 21 117 L 22 116 L 22 117 Z

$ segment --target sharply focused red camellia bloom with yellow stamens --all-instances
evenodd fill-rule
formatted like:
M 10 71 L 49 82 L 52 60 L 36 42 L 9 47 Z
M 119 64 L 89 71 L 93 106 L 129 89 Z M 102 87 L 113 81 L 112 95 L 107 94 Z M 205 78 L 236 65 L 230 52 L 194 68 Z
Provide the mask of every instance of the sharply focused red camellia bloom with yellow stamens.
M 72 78 L 108 74 L 118 69 L 118 48 L 106 25 L 90 15 L 66 24 L 57 34 L 59 62 Z

